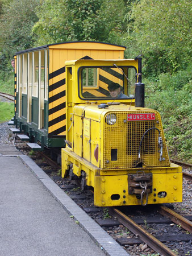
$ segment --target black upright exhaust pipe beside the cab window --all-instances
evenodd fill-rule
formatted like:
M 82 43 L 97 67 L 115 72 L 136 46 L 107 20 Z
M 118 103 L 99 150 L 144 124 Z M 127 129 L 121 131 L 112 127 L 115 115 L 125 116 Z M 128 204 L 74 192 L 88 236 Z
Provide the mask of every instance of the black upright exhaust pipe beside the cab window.
M 145 106 L 145 85 L 142 83 L 141 74 L 141 57 L 136 57 L 138 60 L 138 81 L 135 84 L 135 106 L 138 108 L 144 108 Z

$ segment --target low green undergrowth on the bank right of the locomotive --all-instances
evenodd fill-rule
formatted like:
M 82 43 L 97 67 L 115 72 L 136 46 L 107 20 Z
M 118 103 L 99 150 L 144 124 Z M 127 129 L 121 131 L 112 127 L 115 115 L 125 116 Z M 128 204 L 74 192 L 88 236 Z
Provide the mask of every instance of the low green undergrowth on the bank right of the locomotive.
M 171 88 L 155 92 L 155 84 L 157 87 L 160 86 L 160 83 L 149 82 L 149 89 L 147 89 L 149 98 L 146 99 L 146 106 L 158 110 L 161 114 L 170 157 L 191 163 L 191 81 L 177 91 Z

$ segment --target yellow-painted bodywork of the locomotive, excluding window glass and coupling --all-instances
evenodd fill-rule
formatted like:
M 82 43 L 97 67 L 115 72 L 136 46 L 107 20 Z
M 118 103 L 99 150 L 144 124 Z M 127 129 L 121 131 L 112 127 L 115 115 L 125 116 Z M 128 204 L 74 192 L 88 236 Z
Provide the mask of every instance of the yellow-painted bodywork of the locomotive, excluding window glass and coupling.
M 86 184 L 94 188 L 94 204 L 98 207 L 140 205 L 141 200 L 128 191 L 128 176 L 138 172 L 152 174 L 148 204 L 180 202 L 182 170 L 170 163 L 160 114 L 152 109 L 136 108 L 135 100 L 130 98 L 107 102 L 101 99 L 85 101 L 81 90 L 78 90 L 78 86 L 81 86 L 78 84 L 78 71 L 82 65 L 112 66 L 114 62 L 137 69 L 136 60 L 78 60 L 65 63 L 68 102 L 66 141 L 72 146 L 66 145 L 61 150 L 62 177 L 68 174 L 70 166 L 78 177 L 84 171 Z M 98 108 L 102 102 L 107 104 L 106 108 Z M 133 118 L 148 115 L 154 118 L 130 122 L 130 114 Z M 116 122 L 113 125 L 107 124 L 108 115 L 115 115 Z M 142 138 L 146 130 L 149 130 L 148 134 Z M 158 143 L 159 134 L 162 139 L 161 148 Z M 142 203 L 145 202 L 146 195 Z

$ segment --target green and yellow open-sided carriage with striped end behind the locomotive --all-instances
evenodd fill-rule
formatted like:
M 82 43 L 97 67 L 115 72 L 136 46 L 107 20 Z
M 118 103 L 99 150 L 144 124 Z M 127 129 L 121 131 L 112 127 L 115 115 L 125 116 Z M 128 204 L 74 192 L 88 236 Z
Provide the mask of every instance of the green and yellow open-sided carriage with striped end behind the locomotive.
M 63 147 L 66 135 L 65 61 L 123 59 L 126 47 L 99 42 L 68 42 L 15 54 L 15 132 L 32 150 Z M 74 92 L 75 93 L 75 92 Z M 39 143 L 40 142 L 40 143 Z

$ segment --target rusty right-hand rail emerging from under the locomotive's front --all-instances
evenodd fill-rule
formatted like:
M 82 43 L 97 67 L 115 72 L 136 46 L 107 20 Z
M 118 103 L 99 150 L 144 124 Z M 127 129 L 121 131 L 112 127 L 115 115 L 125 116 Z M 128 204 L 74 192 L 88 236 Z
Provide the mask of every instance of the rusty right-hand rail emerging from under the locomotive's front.
M 174 212 L 174 210 L 164 207 L 163 205 L 159 205 L 158 212 L 165 217 L 169 217 L 174 223 L 176 223 L 177 225 L 181 225 L 183 229 L 192 233 L 192 222 L 187 220 L 180 214 Z

